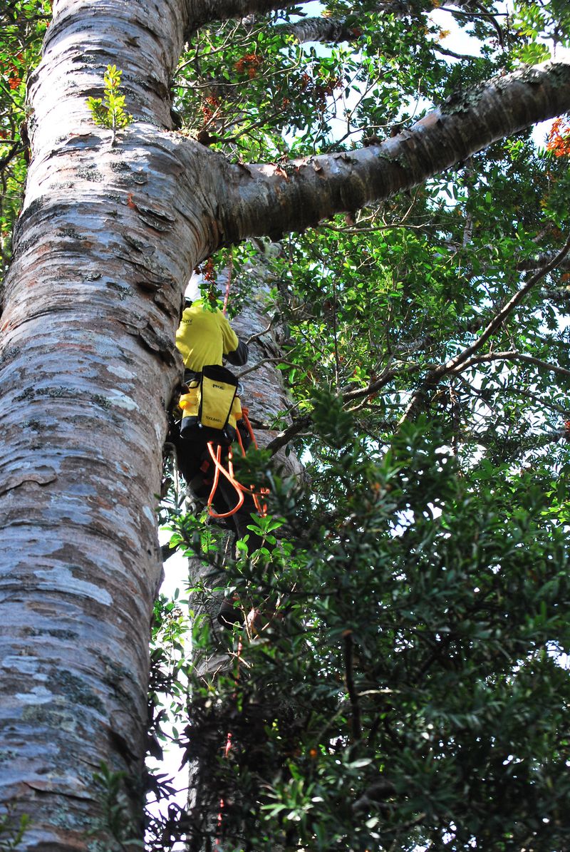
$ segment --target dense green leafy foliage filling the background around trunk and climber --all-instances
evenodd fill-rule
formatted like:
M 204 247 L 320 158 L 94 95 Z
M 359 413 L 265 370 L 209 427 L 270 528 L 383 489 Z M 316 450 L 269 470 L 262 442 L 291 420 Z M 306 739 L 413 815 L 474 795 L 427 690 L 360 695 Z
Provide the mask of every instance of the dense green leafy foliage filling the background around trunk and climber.
M 302 7 L 204 29 L 172 84 L 178 132 L 286 176 L 290 158 L 349 152 L 570 40 L 564 0 L 438 5 L 335 0 L 320 14 L 339 43 L 300 43 Z M 0 13 L 3 266 L 48 11 Z M 199 785 L 169 808 L 183 780 L 149 775 L 149 849 L 570 843 L 567 256 L 544 271 L 567 240 L 569 137 L 561 118 L 547 147 L 517 135 L 412 193 L 233 250 L 232 308 L 252 265 L 270 287 L 306 475 L 248 456 L 241 476 L 271 489 L 268 548 L 239 560 L 164 501 L 171 544 L 204 571 L 157 604 L 151 752 L 176 743 Z M 203 607 L 221 586 L 263 616 L 222 649 Z M 207 665 L 221 650 L 223 673 Z

